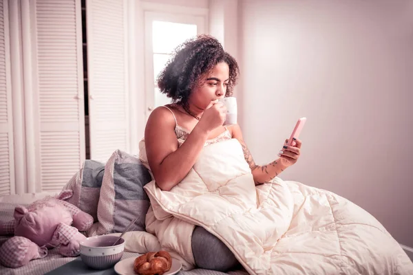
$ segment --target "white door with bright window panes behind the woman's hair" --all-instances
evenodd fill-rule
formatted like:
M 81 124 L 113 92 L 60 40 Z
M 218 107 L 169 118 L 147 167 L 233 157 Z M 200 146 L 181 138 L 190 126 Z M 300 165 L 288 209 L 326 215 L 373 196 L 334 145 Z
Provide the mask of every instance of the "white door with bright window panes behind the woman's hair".
M 197 15 L 145 12 L 145 94 L 147 118 L 153 109 L 171 102 L 161 94 L 156 78 L 173 50 L 197 34 L 204 34 L 205 18 Z

